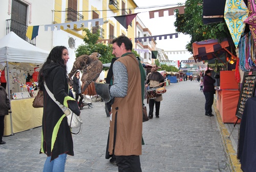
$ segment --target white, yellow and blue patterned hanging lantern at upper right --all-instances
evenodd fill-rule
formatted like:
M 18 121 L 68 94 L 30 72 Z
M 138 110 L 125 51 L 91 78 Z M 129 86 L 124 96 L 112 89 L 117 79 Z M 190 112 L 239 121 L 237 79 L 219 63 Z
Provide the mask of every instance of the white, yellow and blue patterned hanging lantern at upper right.
M 245 24 L 243 21 L 248 17 L 248 13 L 249 11 L 243 0 L 226 1 L 224 19 L 236 48 L 244 32 Z

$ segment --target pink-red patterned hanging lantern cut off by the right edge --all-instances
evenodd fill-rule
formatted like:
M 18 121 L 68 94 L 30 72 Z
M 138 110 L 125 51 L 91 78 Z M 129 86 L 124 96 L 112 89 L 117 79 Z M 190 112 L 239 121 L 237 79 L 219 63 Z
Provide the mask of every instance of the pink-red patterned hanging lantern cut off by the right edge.
M 244 20 L 244 23 L 249 25 L 251 35 L 254 40 L 254 44 L 256 42 L 256 2 L 255 0 L 248 0 L 248 9 L 249 14 L 248 18 Z

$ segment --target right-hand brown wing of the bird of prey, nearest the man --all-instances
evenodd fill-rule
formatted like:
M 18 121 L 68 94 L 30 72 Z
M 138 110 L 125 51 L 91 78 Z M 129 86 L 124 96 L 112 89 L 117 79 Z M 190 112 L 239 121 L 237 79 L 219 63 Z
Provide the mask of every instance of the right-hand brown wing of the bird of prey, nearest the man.
M 82 77 L 81 77 L 81 81 L 83 83 L 82 93 L 86 90 L 86 88 L 91 82 L 96 81 L 101 71 L 102 71 L 102 62 L 98 59 L 92 61 L 91 63 L 89 63 L 88 66 L 86 66 L 83 69 Z

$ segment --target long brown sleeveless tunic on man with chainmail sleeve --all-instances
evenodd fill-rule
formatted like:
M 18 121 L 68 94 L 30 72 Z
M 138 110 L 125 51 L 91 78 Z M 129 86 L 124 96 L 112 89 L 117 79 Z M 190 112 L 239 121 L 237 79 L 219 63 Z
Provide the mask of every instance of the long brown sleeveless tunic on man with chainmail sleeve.
M 112 155 L 113 148 L 115 148 L 117 156 L 138 156 L 142 153 L 142 97 L 139 61 L 133 54 L 120 57 L 117 61 L 126 67 L 128 90 L 125 97 L 115 97 L 115 102 L 112 104 L 109 152 Z

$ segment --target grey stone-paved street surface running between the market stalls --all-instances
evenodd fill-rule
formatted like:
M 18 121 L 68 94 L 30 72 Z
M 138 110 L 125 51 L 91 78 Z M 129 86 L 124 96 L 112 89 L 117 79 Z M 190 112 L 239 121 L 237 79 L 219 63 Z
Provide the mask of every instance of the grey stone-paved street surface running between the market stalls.
M 172 83 L 166 90 L 160 118 L 143 123 L 142 171 L 232 171 L 218 114 L 204 115 L 199 82 Z M 93 105 L 81 111 L 82 132 L 73 136 L 75 156 L 68 156 L 65 171 L 118 171 L 105 159 L 109 118 L 104 102 Z M 39 155 L 40 133 L 37 127 L 4 137 L 7 143 L 0 145 L 0 171 L 42 171 L 46 155 Z

